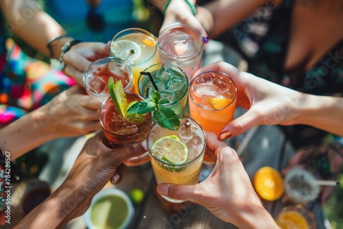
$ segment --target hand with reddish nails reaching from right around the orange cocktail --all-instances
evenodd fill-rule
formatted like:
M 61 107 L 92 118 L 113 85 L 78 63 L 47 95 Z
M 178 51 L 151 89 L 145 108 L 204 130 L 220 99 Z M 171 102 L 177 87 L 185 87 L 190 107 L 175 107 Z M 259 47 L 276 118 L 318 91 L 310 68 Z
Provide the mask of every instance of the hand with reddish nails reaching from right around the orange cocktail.
M 215 62 L 202 67 L 194 75 L 205 71 L 222 71 L 237 86 L 237 106 L 247 110 L 230 121 L 222 130 L 220 139 L 246 132 L 255 125 L 293 125 L 296 123 L 294 104 L 303 99 L 303 93 L 293 91 L 260 77 L 239 71 L 226 62 Z

